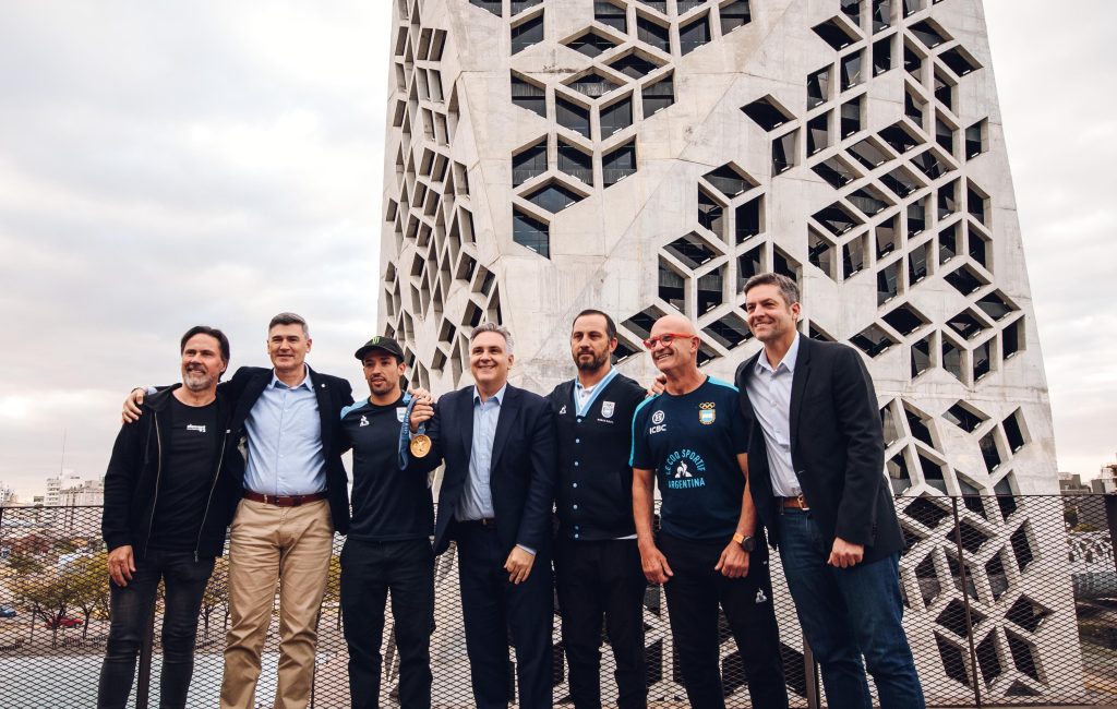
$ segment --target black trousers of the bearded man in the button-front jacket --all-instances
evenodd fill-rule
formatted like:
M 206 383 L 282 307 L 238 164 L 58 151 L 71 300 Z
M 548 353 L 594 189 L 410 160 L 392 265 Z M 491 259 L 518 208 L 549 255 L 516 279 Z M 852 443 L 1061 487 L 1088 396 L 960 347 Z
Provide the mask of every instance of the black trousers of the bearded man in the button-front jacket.
M 620 709 L 647 707 L 643 592 L 648 581 L 636 539 L 558 539 L 555 587 L 575 709 L 601 708 L 602 616 L 617 662 L 617 705 Z

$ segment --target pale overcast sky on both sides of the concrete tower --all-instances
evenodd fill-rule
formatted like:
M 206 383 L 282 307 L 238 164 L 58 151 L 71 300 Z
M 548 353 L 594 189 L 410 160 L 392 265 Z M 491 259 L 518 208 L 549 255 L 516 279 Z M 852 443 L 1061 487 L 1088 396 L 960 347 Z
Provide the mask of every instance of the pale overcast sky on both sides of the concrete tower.
M 1059 467 L 1092 476 L 1117 459 L 1117 3 L 1073 6 L 986 13 Z M 365 390 L 390 22 L 386 0 L 4 0 L 0 482 L 102 475 L 124 392 L 176 381 L 199 322 L 266 364 L 267 320 L 300 313 L 312 365 Z

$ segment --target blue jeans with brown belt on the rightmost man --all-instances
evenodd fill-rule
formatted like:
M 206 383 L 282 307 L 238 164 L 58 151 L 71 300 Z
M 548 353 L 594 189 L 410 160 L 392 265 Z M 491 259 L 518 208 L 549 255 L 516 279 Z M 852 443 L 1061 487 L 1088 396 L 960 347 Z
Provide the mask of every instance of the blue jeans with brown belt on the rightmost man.
M 868 669 L 881 709 L 923 709 L 923 688 L 904 634 L 899 555 L 834 568 L 808 511 L 777 516 L 780 558 L 795 612 L 831 707 L 871 709 Z M 865 664 L 861 658 L 865 657 Z

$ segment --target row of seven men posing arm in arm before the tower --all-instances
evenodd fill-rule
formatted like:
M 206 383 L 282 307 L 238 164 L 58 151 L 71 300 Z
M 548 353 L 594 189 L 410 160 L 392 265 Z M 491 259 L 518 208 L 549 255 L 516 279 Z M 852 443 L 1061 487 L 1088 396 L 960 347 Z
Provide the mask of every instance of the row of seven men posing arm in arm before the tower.
M 307 705 L 334 530 L 347 534 L 341 605 L 353 707 L 379 706 L 389 594 L 399 701 L 431 706 L 435 556 L 454 542 L 476 706 L 514 699 L 509 640 L 519 706 L 552 706 L 557 592 L 576 709 L 601 707 L 603 630 L 618 706 L 647 707 L 650 582 L 666 591 L 693 707 L 725 706 L 720 607 L 753 706 L 783 708 L 765 529 L 830 706 L 871 707 L 867 669 L 881 707 L 922 707 L 868 372 L 849 347 L 799 335 L 790 279 L 756 276 L 745 298 L 764 347 L 736 385 L 704 375 L 694 325 L 666 316 L 643 343 L 661 374 L 652 395 L 612 367 L 615 326 L 595 309 L 572 324 L 576 376 L 545 397 L 508 383 L 514 343 L 495 324 L 470 334 L 474 384 L 438 401 L 404 393 L 400 344 L 373 337 L 355 353 L 370 390 L 356 404 L 344 380 L 305 364 L 312 341 L 298 316 L 270 323 L 271 370 L 242 367 L 220 386 L 228 339 L 192 328 L 182 385 L 133 392 L 126 419 L 139 421 L 123 427 L 106 475 L 113 620 L 98 705 L 124 706 L 160 577 L 161 706 L 184 705 L 198 609 L 231 524 L 222 708 L 256 706 L 277 581 L 274 706 Z M 341 459 L 350 449 L 352 517 Z

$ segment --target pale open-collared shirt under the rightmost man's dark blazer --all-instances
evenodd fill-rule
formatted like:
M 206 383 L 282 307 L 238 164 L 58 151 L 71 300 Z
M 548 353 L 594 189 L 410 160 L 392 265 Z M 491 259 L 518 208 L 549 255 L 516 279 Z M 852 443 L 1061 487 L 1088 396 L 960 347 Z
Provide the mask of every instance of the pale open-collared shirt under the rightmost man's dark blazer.
M 791 382 L 799 358 L 799 337 L 796 333 L 787 354 L 774 370 L 762 349 L 748 379 L 748 400 L 764 431 L 772 494 L 777 497 L 796 497 L 802 492 L 791 461 Z

